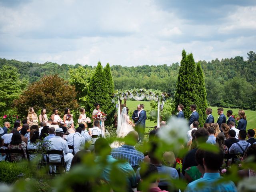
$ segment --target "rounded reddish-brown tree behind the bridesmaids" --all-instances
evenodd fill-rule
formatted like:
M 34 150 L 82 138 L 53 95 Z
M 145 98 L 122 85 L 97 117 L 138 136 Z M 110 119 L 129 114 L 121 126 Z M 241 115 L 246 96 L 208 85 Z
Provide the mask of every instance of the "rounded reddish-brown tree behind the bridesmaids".
M 40 81 L 32 83 L 17 100 L 14 100 L 14 104 L 21 116 L 28 115 L 30 106 L 33 106 L 35 111 L 42 108 L 52 111 L 53 108 L 58 108 L 60 114 L 66 107 L 78 108 L 74 86 L 69 85 L 58 75 L 44 76 Z

